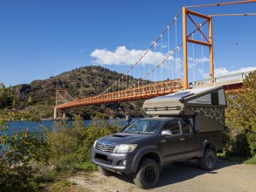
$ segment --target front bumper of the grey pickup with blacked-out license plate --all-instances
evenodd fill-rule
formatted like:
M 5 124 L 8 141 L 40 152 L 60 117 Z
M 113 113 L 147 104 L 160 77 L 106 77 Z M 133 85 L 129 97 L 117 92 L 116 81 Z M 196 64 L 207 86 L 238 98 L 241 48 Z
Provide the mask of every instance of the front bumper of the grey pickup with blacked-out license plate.
M 114 154 L 105 153 L 96 150 L 93 147 L 93 152 L 91 156 L 91 161 L 96 165 L 106 168 L 107 170 L 114 171 L 121 174 L 131 174 L 134 173 L 133 161 L 135 159 L 135 153 L 127 154 Z

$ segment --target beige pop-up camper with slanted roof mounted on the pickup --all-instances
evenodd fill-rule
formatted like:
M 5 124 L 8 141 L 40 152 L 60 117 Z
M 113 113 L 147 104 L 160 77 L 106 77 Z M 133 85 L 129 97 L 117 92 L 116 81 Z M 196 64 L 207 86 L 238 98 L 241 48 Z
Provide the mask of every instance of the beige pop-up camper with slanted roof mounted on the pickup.
M 188 89 L 148 99 L 143 109 L 155 117 L 187 116 L 197 132 L 223 131 L 225 125 L 225 91 L 223 86 Z

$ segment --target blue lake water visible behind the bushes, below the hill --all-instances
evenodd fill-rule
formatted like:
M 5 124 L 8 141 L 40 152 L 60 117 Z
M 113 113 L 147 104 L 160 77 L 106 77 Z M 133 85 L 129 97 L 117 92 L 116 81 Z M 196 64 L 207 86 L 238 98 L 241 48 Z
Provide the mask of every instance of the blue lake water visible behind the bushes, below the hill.
M 38 134 L 40 132 L 40 129 L 42 127 L 47 127 L 49 129 L 52 129 L 53 124 L 55 123 L 55 120 L 42 120 L 40 122 L 35 121 L 11 121 L 9 122 L 9 128 L 7 131 L 4 132 L 4 134 L 13 134 L 15 132 L 21 132 L 22 130 L 28 128 L 28 131 L 31 134 Z M 92 120 L 84 120 L 84 125 L 87 127 Z M 124 127 L 126 125 L 125 119 L 118 119 L 118 120 L 106 120 L 107 123 L 114 123 L 114 125 Z M 68 120 L 67 123 L 72 124 L 73 121 Z

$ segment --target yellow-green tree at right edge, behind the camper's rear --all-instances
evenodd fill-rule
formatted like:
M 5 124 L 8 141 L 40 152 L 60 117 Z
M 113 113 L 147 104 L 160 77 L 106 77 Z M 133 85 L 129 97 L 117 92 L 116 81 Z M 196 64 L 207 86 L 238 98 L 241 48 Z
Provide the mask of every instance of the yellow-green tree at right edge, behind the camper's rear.
M 235 154 L 256 154 L 256 71 L 244 80 L 239 92 L 226 94 L 228 107 L 227 150 Z

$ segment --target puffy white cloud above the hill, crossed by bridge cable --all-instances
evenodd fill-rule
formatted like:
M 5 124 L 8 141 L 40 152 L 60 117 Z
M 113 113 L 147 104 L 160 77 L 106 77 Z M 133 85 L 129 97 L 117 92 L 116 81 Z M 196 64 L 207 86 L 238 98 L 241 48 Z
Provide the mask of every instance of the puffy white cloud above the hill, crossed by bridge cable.
M 107 49 L 96 49 L 91 53 L 93 63 L 98 65 L 134 65 L 142 57 L 145 50 L 128 50 L 125 46 L 118 46 L 114 51 Z M 140 64 L 157 65 L 166 56 L 161 52 L 149 51 Z

